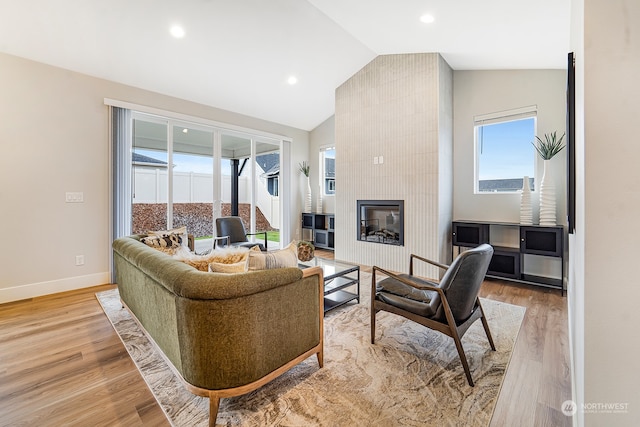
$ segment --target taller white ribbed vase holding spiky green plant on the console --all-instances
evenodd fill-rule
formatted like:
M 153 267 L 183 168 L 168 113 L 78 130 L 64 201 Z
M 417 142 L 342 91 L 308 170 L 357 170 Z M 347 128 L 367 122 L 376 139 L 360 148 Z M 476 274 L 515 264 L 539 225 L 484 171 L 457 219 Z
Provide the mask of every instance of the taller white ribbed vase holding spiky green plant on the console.
M 536 151 L 544 161 L 544 173 L 540 183 L 540 225 L 556 225 L 556 188 L 553 183 L 550 160 L 565 147 L 564 136 L 558 138 L 557 132 L 545 133 L 544 140 L 536 136 L 532 142 Z

